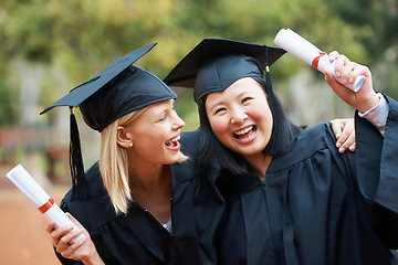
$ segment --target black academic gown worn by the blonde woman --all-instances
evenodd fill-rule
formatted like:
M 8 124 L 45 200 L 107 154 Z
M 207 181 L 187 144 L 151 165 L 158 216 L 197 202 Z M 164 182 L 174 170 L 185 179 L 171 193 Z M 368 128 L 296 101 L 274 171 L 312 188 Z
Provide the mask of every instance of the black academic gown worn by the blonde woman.
M 71 191 L 65 195 L 61 208 L 88 231 L 106 264 L 217 264 L 213 240 L 224 204 L 198 173 L 197 140 L 198 132 L 182 134 L 182 151 L 190 158 L 170 166 L 172 234 L 135 202 L 116 216 L 97 163 L 86 172 L 91 199 L 71 201 Z M 57 256 L 63 264 L 81 264 Z

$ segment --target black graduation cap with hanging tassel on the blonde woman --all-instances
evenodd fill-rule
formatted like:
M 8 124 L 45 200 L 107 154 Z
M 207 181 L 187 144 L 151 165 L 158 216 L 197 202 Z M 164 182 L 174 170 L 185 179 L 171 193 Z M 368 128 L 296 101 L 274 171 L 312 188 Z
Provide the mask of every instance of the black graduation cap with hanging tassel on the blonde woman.
M 72 199 L 87 199 L 77 124 L 73 107 L 80 107 L 84 121 L 100 132 L 125 114 L 154 103 L 177 98 L 177 95 L 155 75 L 132 65 L 156 43 L 116 59 L 90 81 L 73 88 L 66 96 L 40 114 L 59 106 L 71 108 L 70 166 L 73 180 Z

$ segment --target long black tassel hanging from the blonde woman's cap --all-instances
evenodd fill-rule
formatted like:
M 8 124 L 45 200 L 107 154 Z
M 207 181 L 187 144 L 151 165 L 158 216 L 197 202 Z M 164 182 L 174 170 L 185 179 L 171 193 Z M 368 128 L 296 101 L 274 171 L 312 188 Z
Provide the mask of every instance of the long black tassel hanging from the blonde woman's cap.
M 84 176 L 83 158 L 82 158 L 82 150 L 80 145 L 76 117 L 73 114 L 72 107 L 70 107 L 70 110 L 71 110 L 70 168 L 71 168 L 71 176 L 73 183 L 71 200 L 84 201 L 90 198 L 88 186 Z

